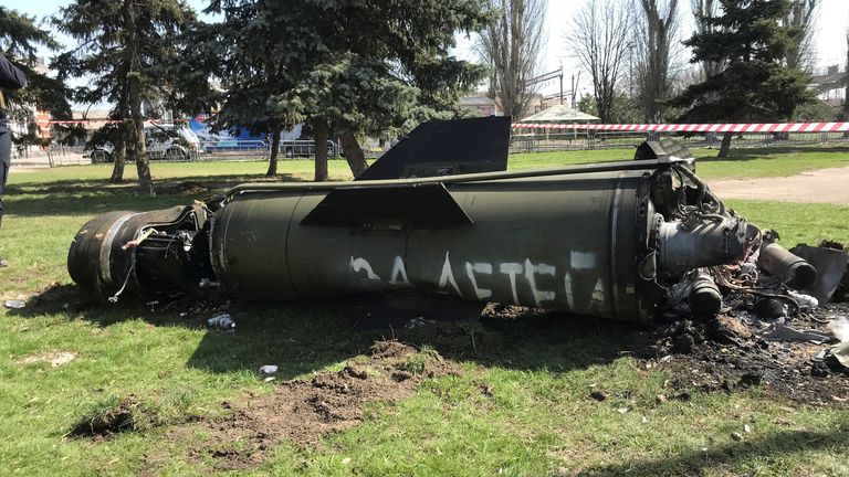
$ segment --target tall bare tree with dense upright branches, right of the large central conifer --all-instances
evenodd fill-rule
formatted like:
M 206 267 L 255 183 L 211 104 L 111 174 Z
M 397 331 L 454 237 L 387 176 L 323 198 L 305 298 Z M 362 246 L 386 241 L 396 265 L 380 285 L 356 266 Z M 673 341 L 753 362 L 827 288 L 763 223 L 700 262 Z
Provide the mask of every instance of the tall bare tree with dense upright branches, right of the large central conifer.
M 496 11 L 478 39 L 490 66 L 490 94 L 505 114 L 521 117 L 535 92 L 528 80 L 539 73 L 548 0 L 491 0 Z

